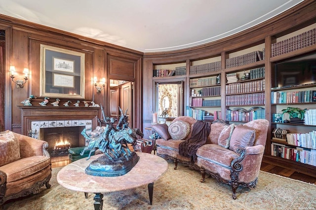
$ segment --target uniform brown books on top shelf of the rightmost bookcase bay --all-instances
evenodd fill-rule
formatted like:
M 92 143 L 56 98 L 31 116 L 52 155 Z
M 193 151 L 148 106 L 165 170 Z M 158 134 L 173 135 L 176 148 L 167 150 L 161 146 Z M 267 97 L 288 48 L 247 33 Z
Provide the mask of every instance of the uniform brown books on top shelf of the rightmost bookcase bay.
M 316 44 L 316 29 L 271 44 L 271 57 Z

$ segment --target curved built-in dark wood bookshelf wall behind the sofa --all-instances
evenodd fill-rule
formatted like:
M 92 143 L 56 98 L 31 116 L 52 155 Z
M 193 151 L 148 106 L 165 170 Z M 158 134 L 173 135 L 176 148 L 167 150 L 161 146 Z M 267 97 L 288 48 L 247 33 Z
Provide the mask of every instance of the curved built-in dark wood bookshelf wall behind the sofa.
M 149 65 L 153 63 L 154 68 L 162 62 L 177 63 L 179 67 L 185 67 L 184 115 L 202 120 L 205 120 L 205 117 L 211 120 L 217 117 L 228 123 L 267 119 L 270 126 L 264 161 L 316 176 L 314 165 L 274 155 L 274 145 L 281 144 L 290 150 L 297 149 L 297 152 L 302 150 L 299 147 L 303 150 L 315 149 L 289 143 L 286 141 L 286 135 L 284 139 L 273 137 L 273 131 L 277 128 L 287 130 L 289 135 L 310 134 L 316 130 L 314 122 L 311 122 L 315 114 L 313 110 L 316 109 L 316 82 L 297 83 L 303 71 L 297 71 L 298 66 L 292 64 L 289 67 L 293 69 L 292 72 L 277 73 L 275 69 L 276 64 L 279 67 L 283 64 L 282 68 L 287 68 L 286 62 L 289 60 L 301 57 L 310 59 L 316 54 L 315 6 L 315 1 L 305 0 L 286 15 L 278 16 L 260 27 L 253 27 L 236 36 L 179 52 L 155 53 L 145 56 L 144 59 Z M 314 66 L 307 66 L 305 70 L 315 72 Z M 149 72 L 151 70 L 146 69 Z M 173 77 L 165 77 L 165 81 L 182 79 Z M 218 100 L 220 105 L 209 106 L 208 100 Z M 294 119 L 292 123 L 283 122 L 286 119 L 290 121 L 289 116 L 281 111 L 289 106 L 306 109 L 303 123 L 293 123 Z M 253 117 L 254 115 L 256 117 Z

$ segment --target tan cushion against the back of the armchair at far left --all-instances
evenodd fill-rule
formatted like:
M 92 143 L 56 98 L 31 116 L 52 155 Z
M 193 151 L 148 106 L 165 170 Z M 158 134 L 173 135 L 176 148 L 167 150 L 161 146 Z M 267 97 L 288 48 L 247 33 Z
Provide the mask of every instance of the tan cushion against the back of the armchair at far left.
M 19 160 L 20 144 L 12 131 L 0 132 L 0 166 Z

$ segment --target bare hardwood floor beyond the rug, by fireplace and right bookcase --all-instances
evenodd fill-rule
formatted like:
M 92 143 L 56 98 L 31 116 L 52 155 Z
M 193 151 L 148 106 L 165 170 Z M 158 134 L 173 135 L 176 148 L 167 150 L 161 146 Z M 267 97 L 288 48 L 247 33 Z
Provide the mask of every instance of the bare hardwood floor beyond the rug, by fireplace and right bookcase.
M 68 156 L 61 156 L 61 157 L 52 157 L 51 158 L 51 167 L 52 168 L 58 168 L 63 167 L 69 164 L 69 158 Z M 279 166 L 275 166 L 269 163 L 262 162 L 261 164 L 261 171 L 269 172 L 271 174 L 281 175 L 297 180 L 301 180 L 308 183 L 314 183 L 316 184 L 316 177 L 304 175 L 302 173 L 298 173 L 295 170 L 285 169 Z

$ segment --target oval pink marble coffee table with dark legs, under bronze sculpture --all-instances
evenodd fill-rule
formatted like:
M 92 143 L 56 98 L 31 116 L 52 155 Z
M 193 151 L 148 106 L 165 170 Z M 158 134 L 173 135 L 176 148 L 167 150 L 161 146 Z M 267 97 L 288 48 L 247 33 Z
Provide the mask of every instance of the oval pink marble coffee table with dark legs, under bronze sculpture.
M 89 163 L 103 154 L 91 156 L 72 162 L 57 174 L 58 183 L 70 190 L 95 193 L 94 209 L 102 209 L 103 194 L 136 188 L 148 184 L 150 204 L 153 204 L 154 181 L 168 170 L 168 163 L 161 157 L 148 153 L 136 152 L 138 163 L 127 174 L 114 177 L 86 175 L 84 170 Z

